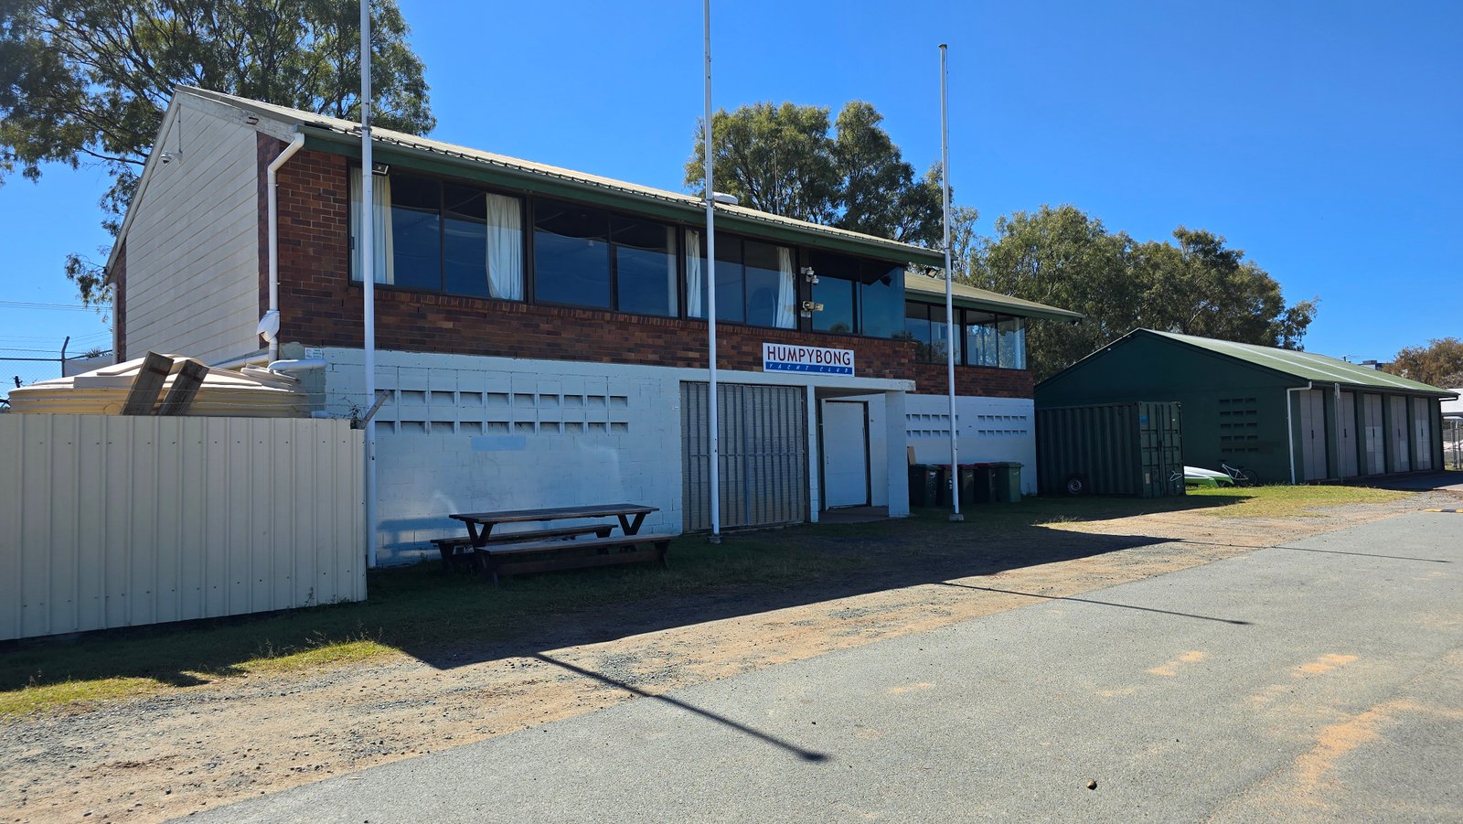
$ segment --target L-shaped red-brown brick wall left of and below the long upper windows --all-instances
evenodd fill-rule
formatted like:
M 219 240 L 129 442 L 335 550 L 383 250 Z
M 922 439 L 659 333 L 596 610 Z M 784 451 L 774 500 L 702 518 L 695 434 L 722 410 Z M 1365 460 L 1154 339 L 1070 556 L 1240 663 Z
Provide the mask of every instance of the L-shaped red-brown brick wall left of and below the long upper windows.
M 284 143 L 259 141 L 260 180 Z M 304 345 L 361 345 L 361 287 L 351 284 L 347 160 L 301 151 L 279 170 L 279 337 Z M 260 183 L 262 184 L 262 183 Z M 263 198 L 263 193 L 260 193 Z M 260 205 L 260 215 L 265 215 Z M 265 230 L 260 243 L 265 243 Z M 262 246 L 263 249 L 263 246 Z M 268 306 L 268 258 L 260 256 L 260 309 Z M 854 350 L 862 378 L 913 372 L 909 341 L 717 326 L 718 366 L 758 372 L 762 342 Z M 645 318 L 595 309 L 376 288 L 376 347 L 546 360 L 699 367 L 704 321 Z M 1027 381 L 1030 388 L 1030 381 Z

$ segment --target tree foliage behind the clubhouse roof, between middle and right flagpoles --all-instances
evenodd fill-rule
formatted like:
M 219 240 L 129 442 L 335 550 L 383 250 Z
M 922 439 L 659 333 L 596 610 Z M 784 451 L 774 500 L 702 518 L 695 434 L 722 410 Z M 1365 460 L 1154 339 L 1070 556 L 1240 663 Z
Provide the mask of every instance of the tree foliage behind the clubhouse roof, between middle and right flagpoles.
M 942 239 L 939 164 L 916 177 L 884 116 L 863 101 L 837 120 L 816 105 L 758 102 L 711 116 L 712 189 L 742 205 L 904 243 Z M 705 190 L 705 138 L 686 162 L 686 184 Z

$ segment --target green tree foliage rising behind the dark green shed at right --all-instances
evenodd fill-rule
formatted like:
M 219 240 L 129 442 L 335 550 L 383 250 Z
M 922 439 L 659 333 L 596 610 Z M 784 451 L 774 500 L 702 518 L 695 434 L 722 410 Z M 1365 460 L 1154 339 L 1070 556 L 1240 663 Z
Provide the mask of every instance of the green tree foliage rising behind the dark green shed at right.
M 1135 328 L 1301 348 L 1315 300 L 1287 306 L 1280 284 L 1220 236 L 1179 227 L 1173 239 L 1138 243 L 1074 206 L 1042 206 L 996 220 L 970 255 L 970 281 L 1086 315 L 1027 332 L 1037 379 Z

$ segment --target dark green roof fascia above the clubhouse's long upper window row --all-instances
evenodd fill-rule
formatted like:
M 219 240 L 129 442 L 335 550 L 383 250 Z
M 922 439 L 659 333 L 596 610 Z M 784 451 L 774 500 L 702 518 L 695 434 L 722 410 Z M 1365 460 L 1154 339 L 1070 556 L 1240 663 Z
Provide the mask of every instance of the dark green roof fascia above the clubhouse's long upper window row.
M 307 149 L 342 155 L 354 160 L 360 160 L 361 157 L 358 136 L 342 135 L 329 129 L 309 126 L 304 126 L 300 130 L 304 133 L 304 146 Z M 691 225 L 705 222 L 705 209 L 702 206 L 692 206 L 676 201 L 658 201 L 655 198 L 617 192 L 614 189 L 572 179 L 552 179 L 531 171 L 497 167 L 473 158 L 461 158 L 432 152 L 429 149 L 413 149 L 389 143 L 377 145 L 372 148 L 372 160 L 375 162 L 401 165 L 417 171 L 475 180 L 478 183 L 500 186 L 505 189 L 518 189 L 533 192 L 535 195 L 549 195 L 594 203 L 598 206 L 633 211 Z M 824 249 L 828 252 L 843 252 L 846 255 L 862 255 L 865 258 L 878 258 L 881 261 L 892 261 L 898 263 L 913 262 L 923 265 L 942 265 L 945 261 L 944 253 L 929 249 L 892 244 L 894 241 L 891 241 L 892 246 L 887 246 L 884 243 L 859 240 L 856 237 L 838 237 L 812 230 L 800 230 L 772 221 L 761 221 L 727 211 L 717 211 L 717 228 L 748 234 L 759 240 L 796 243 L 799 246 Z

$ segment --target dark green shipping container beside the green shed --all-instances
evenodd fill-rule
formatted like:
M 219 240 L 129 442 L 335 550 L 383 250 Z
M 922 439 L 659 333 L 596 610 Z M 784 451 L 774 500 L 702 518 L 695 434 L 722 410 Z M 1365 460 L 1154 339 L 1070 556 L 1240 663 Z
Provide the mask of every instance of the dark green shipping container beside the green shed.
M 1184 495 L 1179 404 L 1037 410 L 1036 470 L 1042 495 Z

